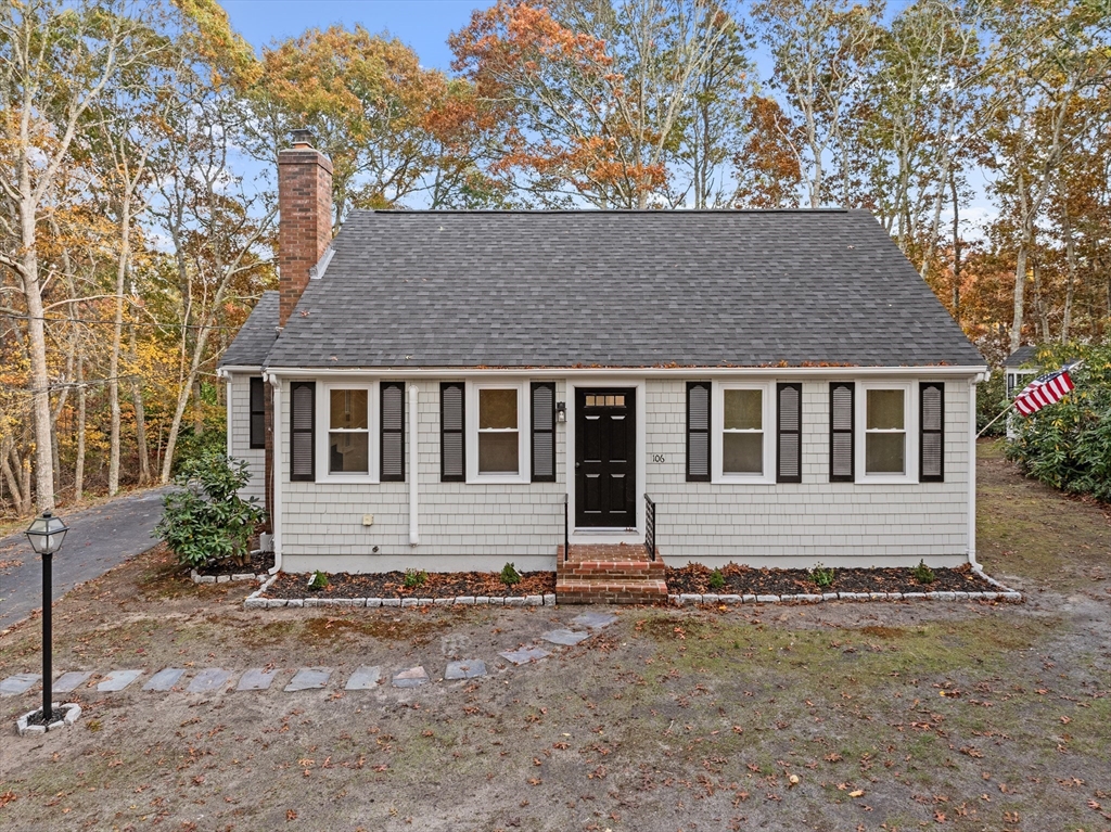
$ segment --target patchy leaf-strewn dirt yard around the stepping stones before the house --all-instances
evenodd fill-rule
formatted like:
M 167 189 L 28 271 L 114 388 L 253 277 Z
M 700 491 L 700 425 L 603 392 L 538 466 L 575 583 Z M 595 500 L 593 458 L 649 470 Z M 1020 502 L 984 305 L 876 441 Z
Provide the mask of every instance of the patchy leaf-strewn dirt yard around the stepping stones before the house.
M 583 608 L 248 613 L 246 585 L 148 553 L 54 613 L 58 673 L 138 682 L 66 696 L 84 715 L 46 738 L 13 730 L 38 689 L 0 700 L 0 828 L 1111 830 L 1111 509 L 980 450 L 980 560 L 1023 604 L 618 609 L 514 666 Z M 0 639 L 0 679 L 38 650 L 38 619 Z M 444 681 L 450 659 L 489 675 Z M 418 664 L 429 684 L 389 685 Z M 283 691 L 308 665 L 328 688 Z M 344 691 L 358 665 L 387 684 Z M 167 666 L 233 672 L 141 691 Z

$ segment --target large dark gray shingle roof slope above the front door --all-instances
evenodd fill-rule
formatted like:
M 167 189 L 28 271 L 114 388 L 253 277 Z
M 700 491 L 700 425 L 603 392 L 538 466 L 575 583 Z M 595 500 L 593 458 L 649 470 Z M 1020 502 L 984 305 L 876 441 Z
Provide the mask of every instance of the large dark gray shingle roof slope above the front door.
M 982 365 L 867 211 L 357 211 L 271 367 Z

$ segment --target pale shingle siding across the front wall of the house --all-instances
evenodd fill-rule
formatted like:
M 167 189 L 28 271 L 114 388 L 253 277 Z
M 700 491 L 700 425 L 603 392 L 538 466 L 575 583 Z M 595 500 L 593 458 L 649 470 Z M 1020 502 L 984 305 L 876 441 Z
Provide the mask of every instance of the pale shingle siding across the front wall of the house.
M 548 378 L 536 375 L 533 380 Z M 917 378 L 905 379 L 917 385 Z M 829 381 L 819 379 L 802 381 L 801 483 L 687 482 L 684 381 L 648 379 L 641 388 L 645 424 L 639 465 L 643 467 L 645 490 L 658 507 L 657 544 L 668 563 L 698 561 L 718 565 L 735 561 L 809 567 L 821 561 L 849 567 L 914 565 L 925 560 L 932 565 L 955 565 L 967 560 L 972 389 L 968 381 L 945 382 L 945 481 L 883 485 L 829 482 Z M 513 561 L 519 569 L 552 569 L 556 548 L 563 542 L 569 425 L 557 427 L 554 483 L 443 483 L 440 380 L 409 383 L 416 383 L 419 390 L 417 547 L 409 544 L 408 480 L 413 438 L 408 435 L 408 415 L 406 482 L 290 482 L 289 382 L 283 384 L 278 437 L 281 469 L 277 477 L 282 489 L 283 568 L 490 570 Z M 246 378 L 242 390 L 246 448 Z M 565 381 L 557 382 L 556 398 L 568 402 L 571 410 L 573 395 Z M 857 408 L 861 407 L 863 400 L 858 394 Z M 573 419 L 573 413 L 569 412 L 568 418 Z M 521 427 L 527 430 L 524 421 L 522 414 Z M 233 432 L 236 424 L 238 420 Z M 471 427 L 468 424 L 468 430 Z M 774 429 L 774 424 L 769 427 Z M 379 438 L 372 437 L 371 441 Z M 713 441 L 720 441 L 720 437 Z M 862 441 L 859 434 L 857 441 Z M 917 458 L 918 441 L 917 434 L 909 434 L 908 457 Z M 257 453 L 261 483 L 262 452 Z M 664 461 L 654 462 L 657 457 Z M 642 540 L 640 503 L 642 499 L 638 505 Z M 362 524 L 364 514 L 373 514 L 372 525 Z M 377 553 L 372 552 L 374 547 Z

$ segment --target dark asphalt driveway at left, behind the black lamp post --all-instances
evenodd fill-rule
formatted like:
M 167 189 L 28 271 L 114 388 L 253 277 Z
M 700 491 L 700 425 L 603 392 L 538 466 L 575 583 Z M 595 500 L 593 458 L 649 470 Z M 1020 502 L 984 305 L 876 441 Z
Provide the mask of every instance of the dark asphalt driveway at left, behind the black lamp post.
M 162 517 L 170 487 L 123 494 L 61 518 L 70 528 L 54 555 L 53 597 L 98 578 L 154 545 L 151 530 Z M 22 533 L 0 538 L 0 631 L 42 607 L 42 563 Z

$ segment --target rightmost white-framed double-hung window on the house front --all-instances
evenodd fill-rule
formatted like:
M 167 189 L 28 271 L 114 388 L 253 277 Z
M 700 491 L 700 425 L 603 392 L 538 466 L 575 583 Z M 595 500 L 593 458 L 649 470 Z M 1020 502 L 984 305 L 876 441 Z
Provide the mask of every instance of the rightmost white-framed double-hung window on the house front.
M 904 482 L 918 477 L 918 455 L 910 437 L 917 428 L 911 385 L 899 382 L 862 383 L 858 419 L 863 442 L 858 447 L 858 482 Z

